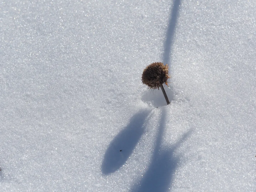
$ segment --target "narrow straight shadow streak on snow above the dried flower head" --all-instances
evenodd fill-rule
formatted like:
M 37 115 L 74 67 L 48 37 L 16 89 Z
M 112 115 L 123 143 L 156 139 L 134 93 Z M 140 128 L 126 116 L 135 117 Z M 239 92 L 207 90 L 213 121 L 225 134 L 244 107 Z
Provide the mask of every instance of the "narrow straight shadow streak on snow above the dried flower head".
M 170 61 L 170 51 L 173 44 L 173 36 L 175 33 L 175 27 L 179 15 L 179 6 L 181 4 L 181 0 L 174 0 L 171 15 L 169 18 L 168 28 L 166 31 L 166 41 L 164 43 L 164 54 L 163 54 L 163 62 L 164 64 L 169 63 Z M 169 65 L 170 67 L 170 65 Z

